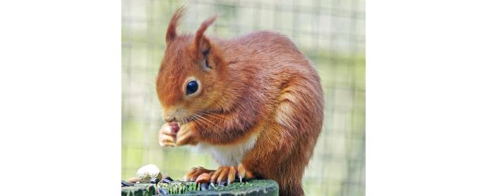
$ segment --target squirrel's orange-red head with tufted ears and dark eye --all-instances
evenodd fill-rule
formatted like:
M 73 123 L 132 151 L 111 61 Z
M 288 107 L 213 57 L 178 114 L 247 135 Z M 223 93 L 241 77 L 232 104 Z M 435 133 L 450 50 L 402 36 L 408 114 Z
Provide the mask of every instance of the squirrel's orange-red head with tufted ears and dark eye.
M 157 96 L 164 121 L 186 122 L 204 111 L 217 109 L 215 100 L 224 92 L 225 63 L 216 43 L 203 33 L 216 16 L 205 20 L 195 35 L 177 35 L 184 8 L 171 18 L 166 33 L 166 51 L 156 78 Z

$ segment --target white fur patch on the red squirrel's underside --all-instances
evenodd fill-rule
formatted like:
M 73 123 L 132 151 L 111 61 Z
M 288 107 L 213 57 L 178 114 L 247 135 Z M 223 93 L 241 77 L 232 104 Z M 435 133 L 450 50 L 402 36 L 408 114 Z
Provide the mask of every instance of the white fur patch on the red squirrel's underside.
M 238 166 L 247 152 L 255 145 L 255 140 L 257 140 L 257 136 L 252 135 L 248 140 L 235 145 L 215 146 L 200 142 L 196 145 L 196 148 L 212 154 L 220 166 Z

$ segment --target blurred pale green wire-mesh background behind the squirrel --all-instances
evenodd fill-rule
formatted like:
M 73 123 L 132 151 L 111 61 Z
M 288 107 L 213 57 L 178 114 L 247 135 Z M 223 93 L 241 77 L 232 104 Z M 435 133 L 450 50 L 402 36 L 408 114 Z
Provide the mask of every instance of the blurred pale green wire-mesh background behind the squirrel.
M 216 169 L 191 147 L 162 148 L 155 75 L 172 13 L 186 4 L 179 32 L 230 38 L 255 30 L 289 36 L 314 63 L 325 93 L 325 125 L 306 169 L 306 195 L 365 195 L 365 0 L 122 0 L 122 178 L 156 164 L 181 179 L 193 166 Z

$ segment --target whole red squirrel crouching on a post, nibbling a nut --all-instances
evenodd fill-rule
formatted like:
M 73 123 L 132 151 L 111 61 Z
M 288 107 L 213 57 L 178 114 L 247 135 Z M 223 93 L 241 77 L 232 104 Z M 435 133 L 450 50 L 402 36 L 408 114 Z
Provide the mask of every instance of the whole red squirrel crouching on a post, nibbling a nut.
M 315 68 L 284 35 L 258 31 L 232 39 L 178 34 L 179 8 L 167 27 L 156 79 L 166 122 L 161 146 L 209 152 L 216 170 L 195 167 L 186 180 L 276 180 L 279 195 L 304 195 L 301 180 L 323 124 L 323 90 Z

